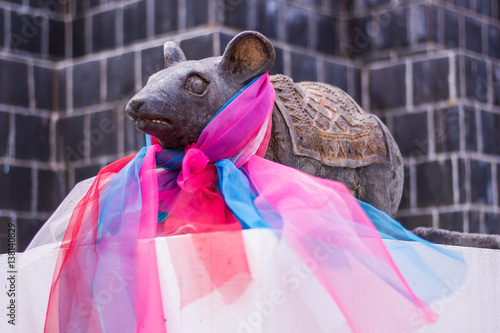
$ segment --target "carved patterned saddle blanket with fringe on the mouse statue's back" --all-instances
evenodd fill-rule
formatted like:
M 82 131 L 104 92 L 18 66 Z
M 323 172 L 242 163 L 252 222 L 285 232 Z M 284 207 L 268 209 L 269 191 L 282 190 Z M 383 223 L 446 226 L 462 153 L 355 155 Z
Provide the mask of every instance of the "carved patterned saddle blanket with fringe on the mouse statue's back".
M 290 131 L 295 155 L 329 166 L 359 168 L 389 160 L 379 120 L 341 89 L 271 76 L 276 104 Z

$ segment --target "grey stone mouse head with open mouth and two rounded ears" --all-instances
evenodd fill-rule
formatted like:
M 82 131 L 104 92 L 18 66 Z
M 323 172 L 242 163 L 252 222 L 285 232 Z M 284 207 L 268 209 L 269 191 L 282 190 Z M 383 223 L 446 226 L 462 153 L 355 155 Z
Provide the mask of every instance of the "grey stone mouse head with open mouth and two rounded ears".
M 222 57 L 187 61 L 174 42 L 164 46 L 165 69 L 152 75 L 126 108 L 135 127 L 163 148 L 196 142 L 205 125 L 247 83 L 269 71 L 274 48 L 258 32 L 234 37 Z

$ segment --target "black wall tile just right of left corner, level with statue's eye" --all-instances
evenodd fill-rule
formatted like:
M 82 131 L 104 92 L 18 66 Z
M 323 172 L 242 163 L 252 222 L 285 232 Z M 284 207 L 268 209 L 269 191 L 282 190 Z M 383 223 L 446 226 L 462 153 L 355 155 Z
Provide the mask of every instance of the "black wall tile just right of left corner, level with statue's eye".
M 99 61 L 85 62 L 73 67 L 73 106 L 98 104 L 100 101 Z

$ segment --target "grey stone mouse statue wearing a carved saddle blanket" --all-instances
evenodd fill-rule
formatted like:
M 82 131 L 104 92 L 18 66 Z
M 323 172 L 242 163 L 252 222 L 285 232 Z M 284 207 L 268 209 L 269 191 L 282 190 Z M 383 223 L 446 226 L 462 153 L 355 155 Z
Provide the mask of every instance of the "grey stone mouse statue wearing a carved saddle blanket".
M 128 103 L 136 128 L 163 148 L 196 142 L 233 95 L 274 64 L 262 34 L 246 31 L 222 57 L 187 61 L 174 42 L 164 45 L 165 69 L 152 75 Z M 324 83 L 270 77 L 275 88 L 273 128 L 266 158 L 344 183 L 358 199 L 391 216 L 403 187 L 403 160 L 387 127 L 344 91 Z

